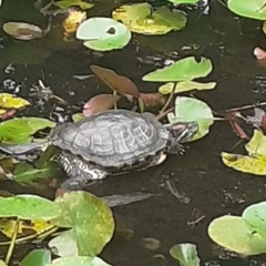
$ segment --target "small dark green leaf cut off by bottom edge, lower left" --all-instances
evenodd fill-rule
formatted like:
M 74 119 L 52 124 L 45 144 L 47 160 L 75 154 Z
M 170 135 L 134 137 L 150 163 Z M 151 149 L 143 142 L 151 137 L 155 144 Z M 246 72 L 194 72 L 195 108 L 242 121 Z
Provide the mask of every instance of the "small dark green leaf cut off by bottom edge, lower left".
M 34 249 L 30 252 L 20 263 L 20 266 L 47 266 L 51 264 L 51 253 L 48 249 Z

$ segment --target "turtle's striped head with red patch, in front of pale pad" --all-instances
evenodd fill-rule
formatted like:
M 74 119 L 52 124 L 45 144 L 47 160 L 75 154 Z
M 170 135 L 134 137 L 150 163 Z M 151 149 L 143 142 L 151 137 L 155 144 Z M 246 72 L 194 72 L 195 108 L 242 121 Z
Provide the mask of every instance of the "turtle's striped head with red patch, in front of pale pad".
M 166 125 L 171 136 L 178 143 L 188 142 L 198 132 L 198 123 L 193 122 L 177 122 Z

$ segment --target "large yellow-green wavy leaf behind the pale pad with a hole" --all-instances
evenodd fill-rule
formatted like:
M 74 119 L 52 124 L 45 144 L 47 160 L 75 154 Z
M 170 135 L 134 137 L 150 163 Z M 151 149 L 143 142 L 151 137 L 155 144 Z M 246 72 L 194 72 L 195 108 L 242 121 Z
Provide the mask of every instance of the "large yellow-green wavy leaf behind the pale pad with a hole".
M 187 20 L 182 11 L 171 11 L 167 7 L 152 12 L 149 3 L 122 6 L 115 9 L 112 16 L 131 31 L 142 34 L 165 34 L 172 30 L 181 30 Z

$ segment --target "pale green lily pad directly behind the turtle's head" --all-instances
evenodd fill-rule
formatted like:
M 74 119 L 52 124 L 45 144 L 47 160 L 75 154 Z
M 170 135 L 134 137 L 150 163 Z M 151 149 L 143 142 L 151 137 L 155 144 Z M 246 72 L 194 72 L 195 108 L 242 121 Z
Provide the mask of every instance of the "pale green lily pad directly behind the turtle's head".
M 175 100 L 175 113 L 167 114 L 171 124 L 176 122 L 198 123 L 198 132 L 193 141 L 202 139 L 209 131 L 209 126 L 214 123 L 211 108 L 203 101 L 192 98 L 178 96 Z

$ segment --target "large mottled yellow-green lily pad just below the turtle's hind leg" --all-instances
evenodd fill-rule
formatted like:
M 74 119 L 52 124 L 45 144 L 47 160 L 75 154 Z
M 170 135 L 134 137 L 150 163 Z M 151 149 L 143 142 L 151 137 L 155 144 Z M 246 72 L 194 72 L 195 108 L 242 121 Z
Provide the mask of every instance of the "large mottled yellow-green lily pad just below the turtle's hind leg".
M 72 227 L 79 256 L 99 254 L 114 231 L 114 219 L 108 204 L 88 192 L 65 193 L 55 203 L 62 215 L 54 223 L 60 227 Z

